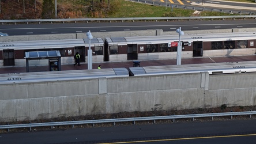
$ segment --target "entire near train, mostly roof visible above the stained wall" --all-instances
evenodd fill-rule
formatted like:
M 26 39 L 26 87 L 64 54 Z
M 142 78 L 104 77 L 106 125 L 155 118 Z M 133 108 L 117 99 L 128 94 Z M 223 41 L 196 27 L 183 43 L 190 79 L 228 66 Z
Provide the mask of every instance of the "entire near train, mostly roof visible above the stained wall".
M 189 65 L 125 67 L 93 70 L 43 71 L 32 73 L 0 74 L 0 85 L 33 82 L 70 81 L 95 78 L 142 77 L 152 75 L 192 74 L 208 72 L 212 74 L 255 73 L 256 61 L 203 63 Z

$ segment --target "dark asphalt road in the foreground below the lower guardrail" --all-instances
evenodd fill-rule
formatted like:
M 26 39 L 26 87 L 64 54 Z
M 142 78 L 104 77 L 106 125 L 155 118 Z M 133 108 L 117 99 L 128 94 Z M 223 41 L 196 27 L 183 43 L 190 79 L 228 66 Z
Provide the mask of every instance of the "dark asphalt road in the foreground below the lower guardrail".
M 256 119 L 0 134 L 1 143 L 255 143 Z M 29 128 L 28 128 L 29 129 Z M 36 128 L 32 128 L 34 130 Z

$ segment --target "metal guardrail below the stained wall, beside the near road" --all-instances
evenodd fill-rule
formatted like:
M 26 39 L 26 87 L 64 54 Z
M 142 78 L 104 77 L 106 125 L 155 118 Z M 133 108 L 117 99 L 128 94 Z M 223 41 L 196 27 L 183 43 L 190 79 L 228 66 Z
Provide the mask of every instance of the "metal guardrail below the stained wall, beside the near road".
M 249 112 L 225 112 L 225 113 L 203 113 L 203 114 L 191 114 L 191 115 L 171 115 L 171 116 L 149 116 L 149 117 L 140 117 L 140 118 L 122 118 L 122 119 L 99 119 L 99 120 L 80 120 L 80 121 L 69 121 L 69 122 L 49 122 L 49 123 L 28 123 L 28 124 L 10 124 L 10 125 L 2 125 L 0 129 L 9 129 L 10 128 L 25 128 L 29 127 L 47 127 L 51 126 L 66 126 L 66 125 L 74 125 L 76 124 L 96 124 L 96 123 L 117 123 L 117 122 L 133 122 L 135 124 L 136 121 L 145 121 L 145 120 L 153 120 L 155 123 L 156 120 L 166 120 L 171 119 L 175 122 L 175 119 L 189 119 L 192 118 L 205 118 L 205 117 L 217 117 L 217 116 L 237 116 L 237 115 L 255 115 L 256 111 L 249 111 Z

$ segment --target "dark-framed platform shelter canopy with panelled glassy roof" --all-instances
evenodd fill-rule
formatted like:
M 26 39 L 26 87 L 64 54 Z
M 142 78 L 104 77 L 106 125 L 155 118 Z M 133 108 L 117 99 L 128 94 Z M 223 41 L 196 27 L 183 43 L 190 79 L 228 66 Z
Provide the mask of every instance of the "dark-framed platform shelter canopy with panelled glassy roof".
M 27 72 L 29 72 L 28 60 L 58 59 L 58 66 L 61 67 L 61 53 L 59 51 L 29 51 L 25 52 L 25 59 Z

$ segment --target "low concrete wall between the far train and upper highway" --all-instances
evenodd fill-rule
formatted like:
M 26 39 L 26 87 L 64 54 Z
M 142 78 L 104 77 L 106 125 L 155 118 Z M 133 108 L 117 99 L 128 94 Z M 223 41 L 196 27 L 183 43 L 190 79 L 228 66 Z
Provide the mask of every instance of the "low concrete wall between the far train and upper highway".
M 255 32 L 256 28 L 239 29 L 209 29 L 197 31 L 183 31 L 185 35 L 197 35 L 200 33 L 232 33 L 232 32 Z M 123 37 L 123 36 L 160 36 L 177 35 L 174 31 L 164 32 L 162 29 L 144 30 L 144 31 L 117 31 L 117 32 L 92 32 L 93 37 L 105 39 L 105 37 Z M 31 41 L 31 40 L 55 40 L 55 39 L 87 39 L 86 33 L 66 33 L 66 34 L 47 34 L 47 35 L 24 35 L 24 36 L 6 36 L 0 37 L 0 41 Z

